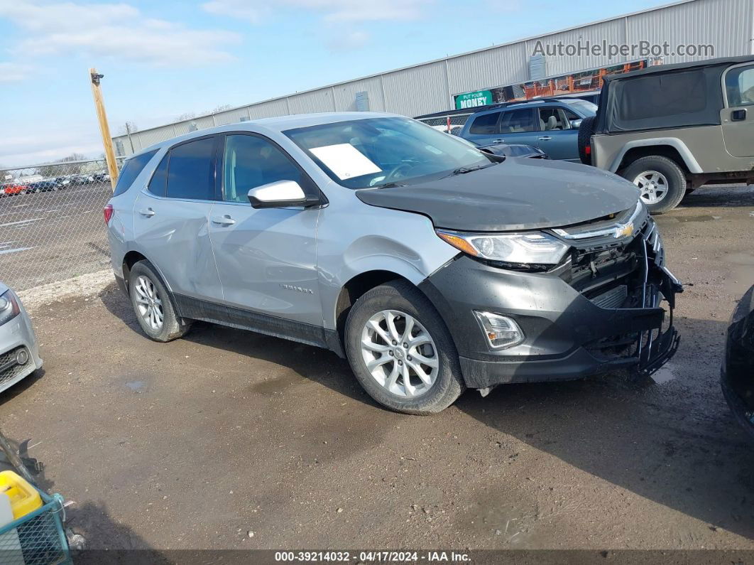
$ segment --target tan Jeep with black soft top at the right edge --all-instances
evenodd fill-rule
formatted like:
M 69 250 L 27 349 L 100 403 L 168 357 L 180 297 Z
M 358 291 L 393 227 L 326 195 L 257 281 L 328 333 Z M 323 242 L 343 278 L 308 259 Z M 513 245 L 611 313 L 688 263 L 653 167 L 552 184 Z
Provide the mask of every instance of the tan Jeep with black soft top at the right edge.
M 605 76 L 579 155 L 639 186 L 651 213 L 705 184 L 754 184 L 754 56 Z

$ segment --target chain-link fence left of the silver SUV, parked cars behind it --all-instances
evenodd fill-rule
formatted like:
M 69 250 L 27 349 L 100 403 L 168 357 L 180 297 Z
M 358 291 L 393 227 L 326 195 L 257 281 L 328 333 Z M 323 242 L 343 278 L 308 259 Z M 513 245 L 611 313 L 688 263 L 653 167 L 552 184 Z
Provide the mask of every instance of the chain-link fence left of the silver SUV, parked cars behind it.
M 0 281 L 26 290 L 107 269 L 111 196 L 104 159 L 0 168 Z

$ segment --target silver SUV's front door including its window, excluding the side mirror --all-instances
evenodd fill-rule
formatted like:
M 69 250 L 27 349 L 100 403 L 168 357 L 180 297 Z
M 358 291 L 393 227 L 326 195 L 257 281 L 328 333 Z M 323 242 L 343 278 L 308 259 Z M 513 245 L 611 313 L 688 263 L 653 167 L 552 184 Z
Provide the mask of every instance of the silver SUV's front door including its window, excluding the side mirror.
M 277 145 L 253 134 L 228 134 L 222 158 L 222 201 L 210 213 L 210 239 L 228 306 L 322 325 L 317 287 L 318 208 L 251 207 L 250 189 L 313 181 Z

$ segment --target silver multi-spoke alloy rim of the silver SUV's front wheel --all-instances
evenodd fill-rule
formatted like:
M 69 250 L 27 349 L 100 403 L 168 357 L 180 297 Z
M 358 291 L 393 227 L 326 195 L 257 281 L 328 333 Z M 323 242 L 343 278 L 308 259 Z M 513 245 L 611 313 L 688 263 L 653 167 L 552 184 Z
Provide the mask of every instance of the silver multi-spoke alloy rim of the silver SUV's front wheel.
M 361 356 L 382 388 L 404 398 L 428 392 L 440 370 L 432 336 L 418 320 L 399 310 L 382 310 L 366 321 Z

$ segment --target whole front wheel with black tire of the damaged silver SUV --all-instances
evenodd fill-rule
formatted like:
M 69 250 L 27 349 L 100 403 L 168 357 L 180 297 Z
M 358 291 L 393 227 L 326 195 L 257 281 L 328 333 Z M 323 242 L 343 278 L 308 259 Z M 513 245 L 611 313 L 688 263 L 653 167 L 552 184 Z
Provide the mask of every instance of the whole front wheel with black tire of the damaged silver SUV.
M 398 315 L 393 323 L 398 336 L 406 335 L 407 317 L 410 317 L 413 321 L 412 330 L 409 331 L 412 339 L 424 342 L 413 347 L 409 344 L 407 348 L 403 346 L 406 343 L 403 339 L 396 340 L 397 343 L 393 346 L 392 339 L 385 342 L 373 330 L 373 326 L 367 326 L 385 312 Z M 383 335 L 392 337 L 387 316 L 378 324 Z M 426 341 L 427 337 L 429 342 Z M 370 342 L 370 347 L 365 347 L 363 340 Z M 384 349 L 381 352 L 370 349 L 376 347 Z M 427 297 L 406 281 L 382 284 L 356 301 L 345 324 L 345 352 L 354 375 L 367 394 L 382 406 L 396 412 L 419 415 L 438 413 L 453 404 L 465 388 L 458 352 L 443 319 Z M 417 357 L 430 363 L 434 361 L 434 368 L 422 364 Z M 367 368 L 366 358 L 371 358 L 370 361 L 385 360 L 373 369 L 380 379 L 384 376 L 383 382 Z M 403 363 L 401 358 L 406 362 Z M 431 382 L 421 379 L 414 367 L 418 367 L 425 374 L 426 380 Z M 392 379 L 393 384 L 390 385 L 394 371 L 396 378 Z M 404 374 L 408 375 L 408 388 Z

